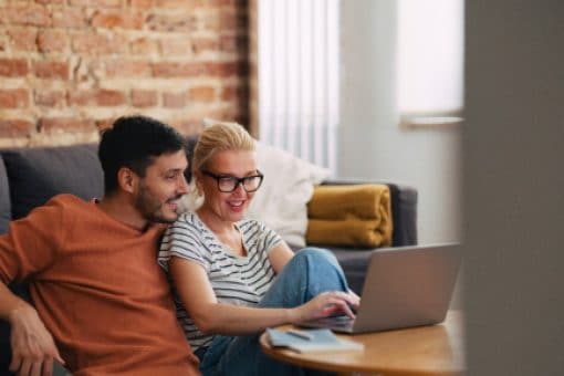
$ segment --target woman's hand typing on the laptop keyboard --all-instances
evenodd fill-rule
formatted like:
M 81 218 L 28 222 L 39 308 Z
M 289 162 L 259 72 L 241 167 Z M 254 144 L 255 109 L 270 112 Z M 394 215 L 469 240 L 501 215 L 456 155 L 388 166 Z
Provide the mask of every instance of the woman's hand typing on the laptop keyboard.
M 295 307 L 295 322 L 327 317 L 334 313 L 342 312 L 355 317 L 351 310 L 358 307 L 359 299 L 355 293 L 342 291 L 327 291 L 318 294 L 307 303 Z

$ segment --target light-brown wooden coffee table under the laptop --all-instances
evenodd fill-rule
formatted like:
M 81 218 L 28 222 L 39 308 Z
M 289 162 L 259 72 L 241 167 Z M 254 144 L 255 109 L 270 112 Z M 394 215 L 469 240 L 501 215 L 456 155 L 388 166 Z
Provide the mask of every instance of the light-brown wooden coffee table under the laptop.
M 288 330 L 292 325 L 279 328 Z M 450 311 L 442 324 L 415 328 L 338 335 L 363 343 L 364 352 L 299 354 L 273 348 L 263 333 L 262 351 L 293 365 L 336 373 L 379 375 L 461 375 L 464 372 L 462 314 Z

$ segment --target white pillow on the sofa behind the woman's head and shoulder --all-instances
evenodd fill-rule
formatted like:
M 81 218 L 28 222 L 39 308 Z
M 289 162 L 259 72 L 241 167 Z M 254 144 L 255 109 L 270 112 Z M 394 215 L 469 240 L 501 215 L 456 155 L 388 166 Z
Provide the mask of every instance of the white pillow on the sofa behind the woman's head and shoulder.
M 305 247 L 307 202 L 314 185 L 326 179 L 330 170 L 260 142 L 257 165 L 264 181 L 254 194 L 247 217 L 263 222 L 288 243 Z

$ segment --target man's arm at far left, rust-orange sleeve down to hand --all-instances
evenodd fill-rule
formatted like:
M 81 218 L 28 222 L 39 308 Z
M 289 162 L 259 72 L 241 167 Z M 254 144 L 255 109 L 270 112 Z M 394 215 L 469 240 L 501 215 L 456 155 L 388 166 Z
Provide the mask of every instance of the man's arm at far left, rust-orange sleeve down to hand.
M 55 205 L 41 207 L 0 236 L 0 320 L 11 326 L 10 370 L 18 375 L 51 375 L 53 359 L 64 364 L 35 309 L 7 286 L 52 264 L 62 243 L 62 217 Z

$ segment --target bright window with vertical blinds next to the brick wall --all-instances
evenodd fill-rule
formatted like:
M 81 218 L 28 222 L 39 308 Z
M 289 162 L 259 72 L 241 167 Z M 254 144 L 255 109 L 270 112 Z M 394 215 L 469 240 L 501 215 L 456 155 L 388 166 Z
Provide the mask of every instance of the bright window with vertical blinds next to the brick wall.
M 258 1 L 260 139 L 336 169 L 338 0 Z

